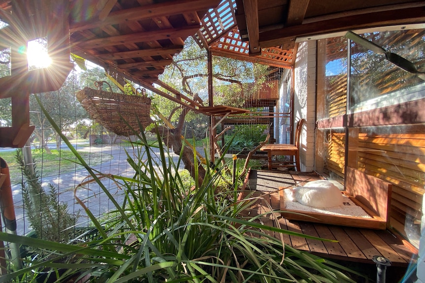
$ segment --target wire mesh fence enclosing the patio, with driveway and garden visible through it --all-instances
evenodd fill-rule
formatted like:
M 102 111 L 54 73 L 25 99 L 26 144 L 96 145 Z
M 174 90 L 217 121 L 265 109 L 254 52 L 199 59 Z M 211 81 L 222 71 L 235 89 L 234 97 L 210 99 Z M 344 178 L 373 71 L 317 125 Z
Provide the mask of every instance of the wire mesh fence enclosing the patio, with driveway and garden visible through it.
M 109 70 L 109 73 L 114 74 L 115 72 Z M 265 88 L 258 91 L 256 96 L 251 96 L 252 99 L 241 100 L 244 102 L 243 105 L 236 105 L 250 109 L 251 114 L 229 116 L 220 120 L 222 115 L 214 119 L 214 123 L 219 122 L 215 127 L 216 133 L 230 127 L 230 130 L 217 140 L 218 147 L 223 147 L 233 137 L 229 153 L 240 154 L 254 148 L 265 139 L 267 134 L 272 133 L 274 137 L 278 137 L 279 131 L 275 133 L 275 125 L 284 123 L 289 126 L 288 99 L 285 98 L 283 101 L 286 103 L 286 107 L 280 106 L 280 110 L 276 111 L 276 98 L 279 98 L 282 73 L 282 70 L 276 69 L 274 75 L 266 79 Z M 126 87 L 129 87 L 126 83 L 131 83 L 124 81 L 116 74 L 115 77 L 108 77 L 104 68 L 87 61 L 85 70 L 75 66 L 60 90 L 36 95 L 41 105 L 60 128 L 61 133 L 67 137 L 79 155 L 96 173 L 104 176 L 119 175 L 131 178 L 135 171 L 127 159 L 129 157 L 136 158 L 137 155 L 143 157 L 143 153 L 138 152 L 138 149 L 130 143 L 130 141 L 136 141 L 137 138 L 132 135 L 122 135 L 123 131 L 117 134 L 112 131 L 113 128 L 106 127 L 105 121 L 108 119 L 106 112 L 101 112 L 99 119 L 92 119 L 94 118 L 93 114 L 90 115 L 86 111 L 87 107 L 84 109 L 81 101 L 77 99 L 78 92 L 87 88 L 96 89 L 99 87 L 99 82 L 102 81 L 109 82 L 107 84 L 109 88 L 106 88 L 107 90 L 104 92 L 121 93 L 117 85 L 112 83 L 114 79 L 121 80 L 122 85 Z M 206 78 L 203 79 L 206 81 Z M 196 82 L 196 84 L 202 85 L 202 82 Z M 139 87 L 136 84 L 132 85 L 136 88 Z M 128 89 L 124 91 L 126 92 Z M 139 91 L 140 89 L 136 91 L 136 94 Z M 272 92 L 275 92 L 273 97 L 265 96 Z M 143 90 L 143 94 L 152 98 L 153 105 L 149 107 L 153 112 L 148 113 L 151 122 L 164 123 L 165 119 L 169 123 L 167 126 L 172 128 L 177 125 L 181 105 L 150 91 Z M 197 95 L 202 96 L 196 94 L 194 99 Z M 287 95 L 289 95 L 288 92 Z M 119 98 L 114 99 L 119 100 Z M 204 100 L 203 103 L 208 105 L 207 94 L 204 94 L 200 100 Z M 0 99 L 0 103 L 3 113 L 1 124 L 11 125 L 10 115 L 7 114 L 10 112 L 10 101 Z M 100 105 L 107 109 L 106 104 L 109 102 L 99 100 L 95 103 L 97 106 Z M 121 113 L 119 110 L 116 117 L 128 120 L 131 117 L 129 104 L 123 107 L 127 107 L 125 109 L 126 117 L 122 116 L 124 111 Z M 142 120 L 140 115 L 135 112 L 133 120 L 136 123 Z M 135 117 L 138 118 L 135 119 Z M 35 130 L 22 150 L 0 149 L 0 157 L 6 160 L 10 169 L 17 234 L 43 233 L 46 238 L 65 241 L 67 238 L 63 235 L 67 234 L 67 231 L 92 227 L 88 212 L 97 219 L 113 217 L 115 205 L 111 203 L 113 201 L 111 196 L 118 203 L 123 203 L 125 198 L 119 182 L 114 182 L 106 177 L 102 179 L 110 196 L 96 182 L 92 182 L 86 168 L 72 154 L 68 145 L 44 115 L 34 94 L 30 95 L 30 120 L 31 124 L 35 125 Z M 211 145 L 208 139 L 210 123 L 210 117 L 203 114 L 202 111 L 191 111 L 185 116 L 182 130 L 182 134 L 187 140 L 195 141 L 194 147 L 197 147 L 200 155 L 204 157 L 205 154 L 210 153 Z M 124 123 L 122 124 L 124 125 Z M 129 126 L 134 128 L 134 125 Z M 146 135 L 148 138 L 153 136 L 149 130 L 146 130 Z M 208 149 L 204 149 L 207 147 Z M 173 152 L 172 147 L 170 148 L 170 154 L 177 163 L 178 154 Z M 155 157 L 158 152 L 152 152 L 152 154 Z M 19 161 L 19 155 L 21 155 L 22 164 Z M 33 172 L 25 174 L 23 164 L 30 166 Z M 184 164 L 180 162 L 180 169 L 183 170 L 183 167 Z M 56 207 L 52 203 L 56 204 Z M 33 206 L 32 209 L 30 209 L 31 206 Z M 69 221 L 66 222 L 67 226 L 61 226 L 61 222 L 63 223 L 66 218 L 69 218 Z M 35 231 L 37 230 L 36 226 L 39 231 Z

